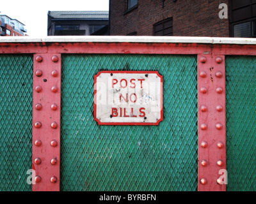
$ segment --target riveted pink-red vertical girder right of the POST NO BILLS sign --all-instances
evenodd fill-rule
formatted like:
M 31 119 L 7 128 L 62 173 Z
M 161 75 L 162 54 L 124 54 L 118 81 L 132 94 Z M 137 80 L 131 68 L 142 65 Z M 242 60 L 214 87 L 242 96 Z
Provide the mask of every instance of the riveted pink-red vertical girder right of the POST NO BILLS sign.
M 198 55 L 198 191 L 226 191 L 225 55 Z

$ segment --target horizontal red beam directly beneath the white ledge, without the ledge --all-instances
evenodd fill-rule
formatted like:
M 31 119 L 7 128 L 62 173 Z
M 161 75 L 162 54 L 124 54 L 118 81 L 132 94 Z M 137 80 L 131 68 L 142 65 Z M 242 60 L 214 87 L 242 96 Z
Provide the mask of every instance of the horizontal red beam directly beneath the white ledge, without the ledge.
M 200 54 L 256 55 L 255 45 L 203 43 L 1 43 L 0 54 Z M 214 52 L 212 50 L 215 50 Z

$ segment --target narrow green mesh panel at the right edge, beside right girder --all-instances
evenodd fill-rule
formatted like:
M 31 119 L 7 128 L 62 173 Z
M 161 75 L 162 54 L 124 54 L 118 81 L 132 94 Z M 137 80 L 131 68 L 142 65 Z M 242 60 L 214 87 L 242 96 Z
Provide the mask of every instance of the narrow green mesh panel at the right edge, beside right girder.
M 256 57 L 226 59 L 227 191 L 256 190 Z

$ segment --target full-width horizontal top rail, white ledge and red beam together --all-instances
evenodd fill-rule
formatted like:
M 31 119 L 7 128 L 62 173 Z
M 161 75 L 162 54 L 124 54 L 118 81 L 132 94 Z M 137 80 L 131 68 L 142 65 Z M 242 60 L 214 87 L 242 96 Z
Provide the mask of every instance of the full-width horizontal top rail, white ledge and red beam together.
M 0 54 L 256 55 L 254 38 L 157 36 L 1 37 Z

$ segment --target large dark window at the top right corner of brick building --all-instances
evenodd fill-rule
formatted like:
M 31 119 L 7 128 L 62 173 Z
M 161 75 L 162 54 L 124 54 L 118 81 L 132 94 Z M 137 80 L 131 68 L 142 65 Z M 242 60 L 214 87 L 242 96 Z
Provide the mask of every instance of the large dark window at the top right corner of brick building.
M 256 1 L 231 0 L 231 34 L 235 38 L 256 38 Z

